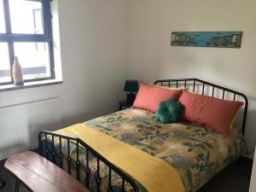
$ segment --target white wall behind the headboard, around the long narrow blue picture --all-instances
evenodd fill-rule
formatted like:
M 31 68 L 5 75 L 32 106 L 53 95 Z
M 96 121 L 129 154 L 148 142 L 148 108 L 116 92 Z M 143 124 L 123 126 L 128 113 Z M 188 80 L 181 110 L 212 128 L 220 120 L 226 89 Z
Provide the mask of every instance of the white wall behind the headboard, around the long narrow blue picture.
M 199 78 L 250 98 L 246 140 L 256 144 L 256 1 L 130 0 L 128 77 Z M 241 49 L 172 47 L 172 31 L 242 31 Z

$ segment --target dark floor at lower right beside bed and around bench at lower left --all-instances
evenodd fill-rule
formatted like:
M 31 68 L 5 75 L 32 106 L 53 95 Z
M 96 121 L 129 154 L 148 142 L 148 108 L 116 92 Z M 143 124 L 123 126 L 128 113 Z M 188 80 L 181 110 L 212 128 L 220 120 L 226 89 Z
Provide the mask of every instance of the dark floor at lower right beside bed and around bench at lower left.
M 15 191 L 15 179 L 3 171 L 3 162 L 0 163 L 0 177 L 6 181 L 6 187 L 0 192 Z M 213 177 L 205 186 L 197 192 L 248 192 L 249 177 L 252 170 L 252 161 L 243 160 L 241 166 L 231 164 L 216 177 Z M 20 192 L 27 190 L 20 186 Z

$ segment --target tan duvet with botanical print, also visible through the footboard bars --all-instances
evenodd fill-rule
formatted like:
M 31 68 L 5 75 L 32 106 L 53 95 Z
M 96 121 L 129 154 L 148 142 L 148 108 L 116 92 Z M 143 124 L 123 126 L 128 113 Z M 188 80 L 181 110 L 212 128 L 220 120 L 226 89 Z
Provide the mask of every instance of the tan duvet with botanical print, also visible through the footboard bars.
M 84 125 L 102 131 L 124 143 L 165 160 L 174 166 L 183 180 L 187 192 L 194 192 L 207 183 L 214 175 L 241 155 L 241 131 L 234 127 L 228 137 L 218 135 L 204 127 L 185 123 L 161 124 L 154 113 L 141 109 L 125 109 L 100 118 L 84 122 Z M 99 141 L 100 142 L 100 141 Z M 67 143 L 63 142 L 63 155 L 67 156 Z M 76 146 L 70 146 L 71 156 L 76 159 Z M 58 152 L 59 143 L 55 142 Z M 86 183 L 85 149 L 79 148 L 81 159 L 81 181 Z M 120 154 L 121 155 L 121 154 Z M 66 158 L 67 159 L 67 158 Z M 67 169 L 67 161 L 62 160 Z M 65 166 L 66 165 L 66 166 Z M 136 165 L 135 165 L 136 166 Z M 101 164 L 101 191 L 108 191 L 108 167 Z M 96 158 L 90 154 L 90 190 L 96 191 Z M 72 164 L 75 176 L 75 162 Z M 121 179 L 113 172 L 113 191 L 120 188 Z M 106 181 L 104 181 L 104 179 Z M 154 179 L 154 178 L 153 178 Z M 140 186 L 142 191 L 144 190 Z M 128 184 L 126 191 L 131 191 Z

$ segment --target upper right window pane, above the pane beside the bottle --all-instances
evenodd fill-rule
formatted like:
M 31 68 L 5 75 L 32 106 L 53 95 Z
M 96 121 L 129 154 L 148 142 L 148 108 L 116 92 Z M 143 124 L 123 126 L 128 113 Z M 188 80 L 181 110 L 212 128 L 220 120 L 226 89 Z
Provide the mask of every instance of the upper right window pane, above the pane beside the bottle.
M 13 33 L 44 33 L 44 17 L 41 2 L 9 0 L 9 9 Z

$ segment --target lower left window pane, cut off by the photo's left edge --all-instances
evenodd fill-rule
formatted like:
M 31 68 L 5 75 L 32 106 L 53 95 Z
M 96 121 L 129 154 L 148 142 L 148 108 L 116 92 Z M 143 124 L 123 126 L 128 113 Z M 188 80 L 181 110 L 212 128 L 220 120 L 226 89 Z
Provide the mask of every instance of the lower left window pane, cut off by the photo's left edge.
M 0 83 L 10 82 L 9 50 L 7 43 L 0 43 Z

